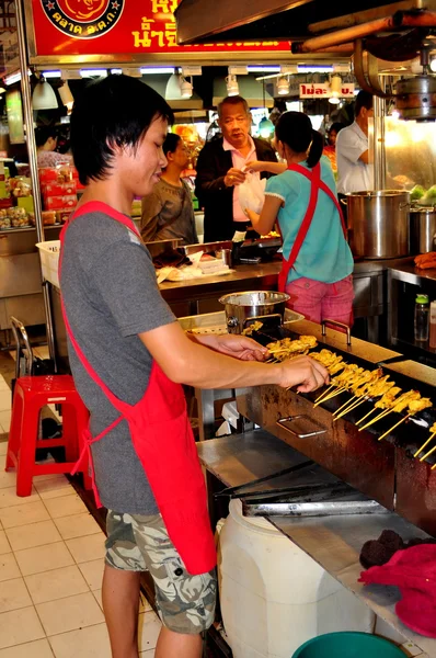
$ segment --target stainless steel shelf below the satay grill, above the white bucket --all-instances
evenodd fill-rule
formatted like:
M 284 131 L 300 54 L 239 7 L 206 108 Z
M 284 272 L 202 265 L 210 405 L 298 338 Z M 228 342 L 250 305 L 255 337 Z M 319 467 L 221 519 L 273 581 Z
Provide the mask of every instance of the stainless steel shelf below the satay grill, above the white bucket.
M 197 449 L 204 466 L 226 487 L 245 484 L 301 461 L 301 453 L 263 430 L 213 439 L 197 444 Z M 264 487 L 268 488 L 267 484 Z M 365 542 L 377 538 L 386 529 L 405 541 L 427 536 L 422 530 L 395 513 L 267 520 L 415 647 L 436 657 L 436 640 L 413 633 L 398 619 L 394 605 L 400 593 L 395 587 L 364 587 L 357 582 L 363 571 L 358 557 Z

